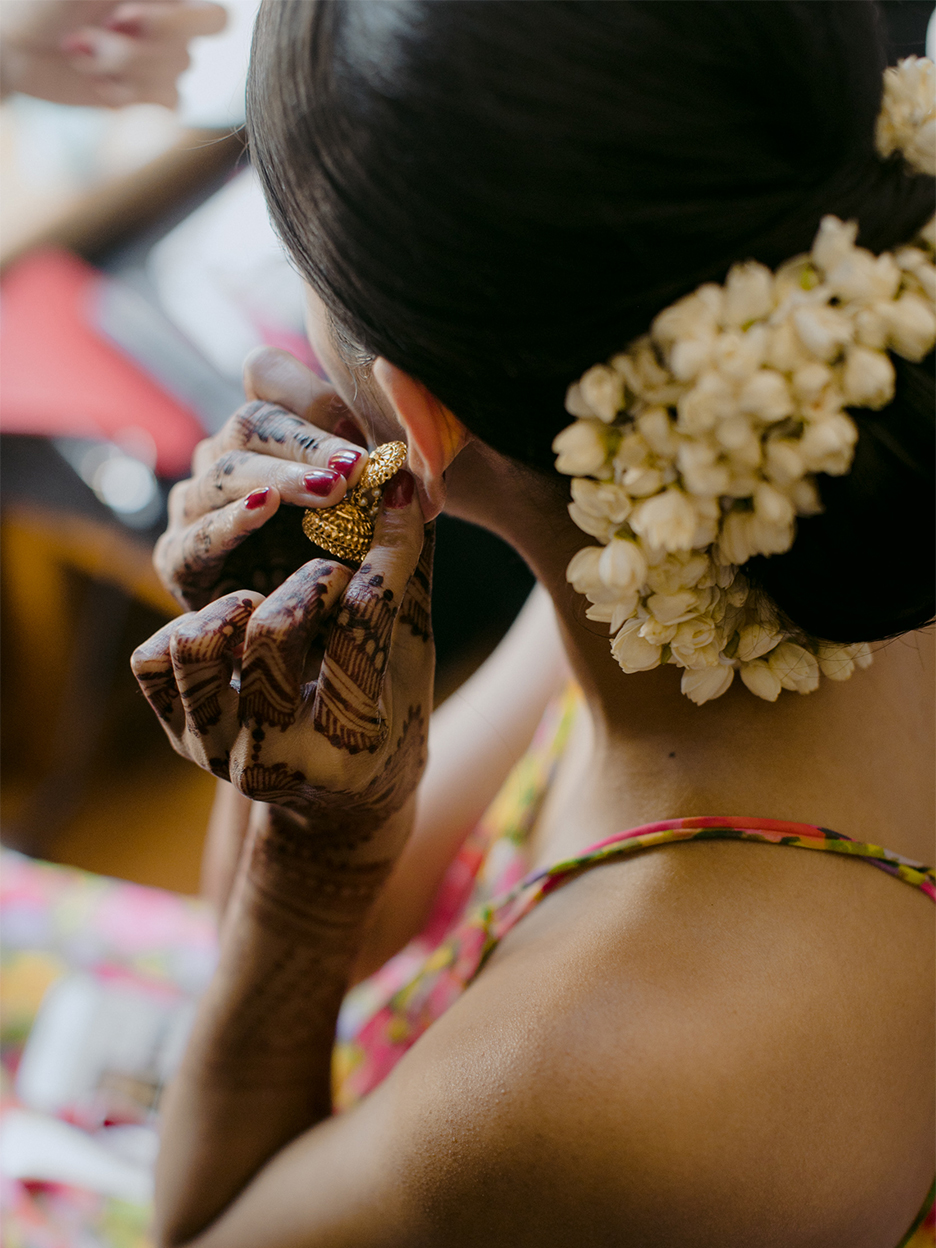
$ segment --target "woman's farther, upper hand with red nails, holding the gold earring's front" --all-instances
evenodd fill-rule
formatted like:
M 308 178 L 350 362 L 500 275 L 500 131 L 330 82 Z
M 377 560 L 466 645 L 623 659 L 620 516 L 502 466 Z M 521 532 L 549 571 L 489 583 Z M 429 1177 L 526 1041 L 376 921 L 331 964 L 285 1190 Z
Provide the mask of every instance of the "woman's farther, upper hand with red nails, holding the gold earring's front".
M 332 507 L 367 463 L 348 408 L 287 352 L 255 352 L 245 391 L 252 402 L 196 447 L 156 543 L 156 570 L 187 610 L 281 585 L 311 553 L 293 507 Z

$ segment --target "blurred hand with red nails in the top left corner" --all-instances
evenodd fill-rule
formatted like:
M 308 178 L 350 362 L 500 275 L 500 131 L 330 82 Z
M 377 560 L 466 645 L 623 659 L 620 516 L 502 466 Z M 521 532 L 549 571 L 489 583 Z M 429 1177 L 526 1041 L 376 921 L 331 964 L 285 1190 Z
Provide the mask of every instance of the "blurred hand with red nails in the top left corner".
M 188 41 L 226 21 L 223 5 L 206 0 L 0 0 L 2 94 L 173 109 Z

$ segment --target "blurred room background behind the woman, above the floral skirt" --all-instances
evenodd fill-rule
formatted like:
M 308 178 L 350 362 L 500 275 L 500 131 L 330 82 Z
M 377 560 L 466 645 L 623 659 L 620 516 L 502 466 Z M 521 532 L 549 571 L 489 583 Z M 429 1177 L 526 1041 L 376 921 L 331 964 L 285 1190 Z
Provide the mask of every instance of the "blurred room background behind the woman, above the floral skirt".
M 243 401 L 247 352 L 308 362 L 300 281 L 245 151 L 256 0 L 227 9 L 221 35 L 193 41 L 175 112 L 0 106 L 2 839 L 182 892 L 213 781 L 171 751 L 130 675 L 177 613 L 151 549 L 195 443 Z M 441 529 L 443 698 L 532 580 L 488 534 Z

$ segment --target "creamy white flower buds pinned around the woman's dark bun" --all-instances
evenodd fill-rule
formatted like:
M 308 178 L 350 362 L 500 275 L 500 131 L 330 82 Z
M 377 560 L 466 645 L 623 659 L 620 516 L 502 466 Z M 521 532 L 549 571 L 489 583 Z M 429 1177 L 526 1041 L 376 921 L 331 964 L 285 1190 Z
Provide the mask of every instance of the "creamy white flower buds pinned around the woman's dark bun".
M 910 57 L 887 75 L 880 151 L 920 167 L 936 155 L 934 66 Z M 807 256 L 775 273 L 733 266 L 569 387 L 577 419 L 553 449 L 574 478 L 572 518 L 600 544 L 567 577 L 624 671 L 674 664 L 696 704 L 738 673 L 774 701 L 871 661 L 864 643 L 792 635 L 741 570 L 789 550 L 797 517 L 822 509 L 817 474 L 849 472 L 846 409 L 891 402 L 889 352 L 919 362 L 936 342 L 936 218 L 892 253 L 856 237 L 856 222 L 824 217 Z

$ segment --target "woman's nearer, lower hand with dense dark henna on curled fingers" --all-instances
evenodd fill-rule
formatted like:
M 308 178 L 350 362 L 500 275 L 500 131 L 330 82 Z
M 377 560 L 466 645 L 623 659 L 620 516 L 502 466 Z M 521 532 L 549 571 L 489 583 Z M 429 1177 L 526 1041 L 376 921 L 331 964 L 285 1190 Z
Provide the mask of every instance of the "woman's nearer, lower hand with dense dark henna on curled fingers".
M 180 754 L 317 832 L 369 835 L 426 761 L 431 569 L 401 472 L 358 572 L 313 559 L 268 598 L 227 594 L 141 645 L 134 673 Z

